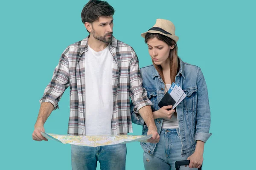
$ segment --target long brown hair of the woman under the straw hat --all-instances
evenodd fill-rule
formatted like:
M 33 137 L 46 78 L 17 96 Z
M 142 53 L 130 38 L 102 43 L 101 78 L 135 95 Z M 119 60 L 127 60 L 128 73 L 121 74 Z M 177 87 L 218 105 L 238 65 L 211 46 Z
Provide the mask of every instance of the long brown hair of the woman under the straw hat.
M 162 34 L 157 34 L 157 33 L 147 33 L 145 35 L 145 43 L 148 43 L 148 40 L 152 38 L 157 38 L 160 41 L 165 42 L 166 44 L 172 46 L 175 45 L 175 47 L 170 50 L 169 54 L 169 61 L 170 61 L 170 76 L 171 76 L 171 83 L 175 82 L 175 77 L 177 75 L 177 71 L 179 69 L 179 62 L 178 62 L 178 56 L 177 56 L 177 51 L 178 47 L 177 44 L 174 40 L 172 40 L 169 37 L 166 37 Z M 154 61 L 152 60 L 154 67 L 156 68 L 157 72 L 159 73 L 160 77 L 163 79 L 164 84 L 166 84 L 165 79 L 163 77 L 163 69 L 161 65 L 156 65 Z

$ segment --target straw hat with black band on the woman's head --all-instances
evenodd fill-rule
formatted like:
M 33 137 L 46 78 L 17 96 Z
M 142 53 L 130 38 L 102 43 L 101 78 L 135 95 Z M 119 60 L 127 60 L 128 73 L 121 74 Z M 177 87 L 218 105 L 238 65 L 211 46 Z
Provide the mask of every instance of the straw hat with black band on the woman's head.
M 175 42 L 179 40 L 179 37 L 175 35 L 175 26 L 169 20 L 157 19 L 155 25 L 152 28 L 150 28 L 147 32 L 142 33 L 141 37 L 145 38 L 145 35 L 147 33 L 162 34 L 166 37 L 170 37 L 172 40 L 175 40 Z

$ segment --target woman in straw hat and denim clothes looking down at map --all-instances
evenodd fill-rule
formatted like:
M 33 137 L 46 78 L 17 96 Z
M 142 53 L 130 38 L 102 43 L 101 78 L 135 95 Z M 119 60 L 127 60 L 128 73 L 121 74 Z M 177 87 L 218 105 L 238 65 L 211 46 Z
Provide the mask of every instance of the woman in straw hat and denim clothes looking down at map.
M 175 170 L 175 161 L 190 160 L 189 167 L 199 168 L 203 162 L 204 143 L 209 133 L 210 109 L 207 85 L 199 67 L 183 62 L 177 56 L 175 26 L 169 20 L 157 19 L 156 24 L 141 34 L 148 45 L 153 65 L 141 68 L 143 88 L 152 102 L 152 111 L 160 135 L 157 144 L 141 143 L 144 150 L 145 170 Z M 160 108 L 158 103 L 172 82 L 180 85 L 186 97 L 173 110 Z M 138 113 L 133 111 L 134 123 L 143 125 L 143 135 L 148 127 Z

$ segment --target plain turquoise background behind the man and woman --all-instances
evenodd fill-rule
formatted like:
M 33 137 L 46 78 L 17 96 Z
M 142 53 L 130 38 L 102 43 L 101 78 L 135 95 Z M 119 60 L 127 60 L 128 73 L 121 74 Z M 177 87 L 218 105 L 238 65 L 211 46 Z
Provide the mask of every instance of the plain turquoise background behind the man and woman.
M 39 99 L 64 49 L 87 36 L 81 10 L 87 0 L 0 2 L 0 169 L 70 170 L 70 145 L 32 140 Z M 157 18 L 171 20 L 183 61 L 201 67 L 209 89 L 213 135 L 204 170 L 254 169 L 255 2 L 253 0 L 109 0 L 114 36 L 131 45 L 140 67 L 151 64 L 140 34 Z M 69 90 L 46 132 L 66 134 Z M 134 125 L 133 135 L 142 128 Z M 139 142 L 127 144 L 127 170 L 143 170 Z M 249 164 L 247 164 L 249 163 Z

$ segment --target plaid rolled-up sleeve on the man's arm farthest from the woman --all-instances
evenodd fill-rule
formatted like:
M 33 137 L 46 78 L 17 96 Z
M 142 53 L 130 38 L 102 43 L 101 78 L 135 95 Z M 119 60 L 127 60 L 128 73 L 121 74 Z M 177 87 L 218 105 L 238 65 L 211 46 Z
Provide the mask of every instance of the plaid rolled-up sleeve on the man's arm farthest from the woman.
M 52 80 L 49 82 L 44 90 L 44 95 L 40 99 L 42 102 L 50 102 L 54 106 L 54 110 L 59 108 L 58 102 L 61 99 L 64 91 L 69 87 L 69 62 L 68 62 L 69 48 L 67 47 L 61 55 L 61 58 L 56 66 Z

